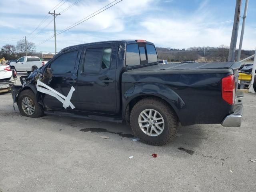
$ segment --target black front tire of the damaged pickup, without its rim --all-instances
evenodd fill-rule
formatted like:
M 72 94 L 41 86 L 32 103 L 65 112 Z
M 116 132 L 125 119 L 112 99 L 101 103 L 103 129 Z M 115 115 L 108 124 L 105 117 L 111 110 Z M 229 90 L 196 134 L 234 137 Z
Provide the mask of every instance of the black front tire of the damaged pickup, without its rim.
M 24 110 L 22 109 L 22 100 L 23 98 L 30 98 L 33 102 L 34 102 L 34 113 L 29 115 L 26 114 L 24 112 Z M 44 112 L 42 110 L 42 107 L 38 104 L 38 102 L 36 101 L 36 96 L 35 94 L 32 92 L 32 90 L 26 89 L 23 90 L 22 92 L 20 92 L 19 96 L 18 96 L 18 108 L 20 110 L 20 114 L 22 116 L 27 116 L 27 117 L 42 117 L 44 116 Z

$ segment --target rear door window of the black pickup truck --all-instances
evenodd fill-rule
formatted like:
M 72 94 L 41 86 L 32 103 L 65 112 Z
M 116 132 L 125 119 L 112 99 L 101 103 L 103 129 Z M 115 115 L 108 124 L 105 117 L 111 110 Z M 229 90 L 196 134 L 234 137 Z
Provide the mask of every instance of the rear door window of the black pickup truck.
M 110 68 L 112 48 L 88 48 L 84 58 L 84 74 L 99 74 Z

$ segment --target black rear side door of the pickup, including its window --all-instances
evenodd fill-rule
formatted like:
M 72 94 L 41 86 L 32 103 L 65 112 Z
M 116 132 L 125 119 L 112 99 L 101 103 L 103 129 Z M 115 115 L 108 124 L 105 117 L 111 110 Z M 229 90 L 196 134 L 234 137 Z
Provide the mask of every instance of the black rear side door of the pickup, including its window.
M 84 47 L 84 58 L 78 68 L 79 110 L 102 114 L 116 112 L 115 44 Z

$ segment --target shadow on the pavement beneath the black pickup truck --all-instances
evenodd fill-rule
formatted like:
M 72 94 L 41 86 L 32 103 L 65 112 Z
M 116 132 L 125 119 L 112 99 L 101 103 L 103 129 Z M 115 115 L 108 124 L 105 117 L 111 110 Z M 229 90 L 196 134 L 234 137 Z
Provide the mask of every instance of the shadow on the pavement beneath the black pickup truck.
M 123 148 L 123 146 L 120 145 L 120 140 L 122 140 L 125 141 L 125 143 L 122 144 L 126 145 L 126 147 L 127 145 L 130 145 L 130 147 L 139 145 L 142 149 L 150 148 L 154 150 L 168 151 L 175 149 L 176 151 L 181 150 L 192 155 L 194 154 L 194 151 L 196 151 L 196 148 L 198 148 L 202 142 L 205 142 L 208 139 L 208 132 L 204 130 L 206 127 L 205 125 L 193 125 L 186 127 L 179 126 L 176 136 L 170 143 L 166 144 L 165 146 L 151 146 L 140 141 L 133 142 L 131 138 L 133 138 L 134 135 L 130 126 L 127 124 L 116 124 L 111 122 L 100 122 L 77 118 L 56 118 L 56 116 L 44 116 L 42 119 L 53 121 L 54 124 L 63 125 L 66 127 L 66 130 L 71 128 L 74 129 L 75 132 L 84 132 L 84 134 L 87 134 L 87 136 L 88 134 L 93 134 L 96 136 L 109 136 L 112 140 L 112 144 L 113 142 L 117 143 L 114 146 L 115 148 Z M 68 134 L 63 131 L 64 130 L 62 130 L 61 134 Z M 95 140 L 92 142 L 97 141 Z

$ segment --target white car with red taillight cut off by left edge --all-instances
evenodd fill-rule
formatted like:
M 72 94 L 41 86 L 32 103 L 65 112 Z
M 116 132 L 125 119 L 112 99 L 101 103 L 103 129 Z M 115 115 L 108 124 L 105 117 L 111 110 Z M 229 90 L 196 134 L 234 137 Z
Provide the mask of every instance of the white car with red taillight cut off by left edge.
M 16 74 L 14 75 L 16 76 Z M 14 85 L 14 82 L 15 79 L 13 77 L 13 71 L 10 66 L 0 64 L 0 93 L 8 92 Z

